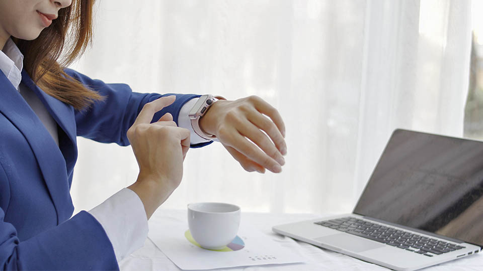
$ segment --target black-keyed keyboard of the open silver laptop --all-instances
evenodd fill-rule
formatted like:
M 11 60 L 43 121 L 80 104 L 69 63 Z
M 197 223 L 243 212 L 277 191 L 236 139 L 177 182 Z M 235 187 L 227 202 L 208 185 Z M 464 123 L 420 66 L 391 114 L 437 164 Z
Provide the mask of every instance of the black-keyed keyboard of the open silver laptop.
M 343 217 L 314 223 L 430 257 L 464 248 L 464 246 L 379 225 L 355 217 Z

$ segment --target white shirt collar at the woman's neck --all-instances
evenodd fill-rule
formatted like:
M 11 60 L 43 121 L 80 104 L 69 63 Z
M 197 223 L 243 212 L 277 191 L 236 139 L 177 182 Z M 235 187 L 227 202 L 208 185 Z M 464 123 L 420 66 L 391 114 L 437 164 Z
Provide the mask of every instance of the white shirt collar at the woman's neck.
M 0 70 L 17 90 L 19 90 L 20 81 L 22 81 L 23 66 L 24 55 L 14 41 L 8 39 L 3 51 L 0 50 Z

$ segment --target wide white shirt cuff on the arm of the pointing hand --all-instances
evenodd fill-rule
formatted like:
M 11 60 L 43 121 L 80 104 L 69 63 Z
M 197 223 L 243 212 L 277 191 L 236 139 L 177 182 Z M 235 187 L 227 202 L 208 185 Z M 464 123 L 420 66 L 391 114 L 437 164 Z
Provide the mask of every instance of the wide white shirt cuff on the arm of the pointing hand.
M 121 189 L 89 213 L 101 223 L 118 261 L 144 245 L 149 231 L 147 217 L 134 191 Z

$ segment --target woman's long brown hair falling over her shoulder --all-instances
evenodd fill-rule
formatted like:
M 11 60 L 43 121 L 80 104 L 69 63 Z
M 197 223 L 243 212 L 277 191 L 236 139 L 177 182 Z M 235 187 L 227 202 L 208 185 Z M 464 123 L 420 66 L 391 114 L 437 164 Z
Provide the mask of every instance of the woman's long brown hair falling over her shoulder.
M 92 41 L 93 6 L 94 0 L 72 0 L 37 39 L 13 39 L 24 54 L 24 67 L 32 80 L 50 96 L 78 110 L 103 99 L 63 71 Z

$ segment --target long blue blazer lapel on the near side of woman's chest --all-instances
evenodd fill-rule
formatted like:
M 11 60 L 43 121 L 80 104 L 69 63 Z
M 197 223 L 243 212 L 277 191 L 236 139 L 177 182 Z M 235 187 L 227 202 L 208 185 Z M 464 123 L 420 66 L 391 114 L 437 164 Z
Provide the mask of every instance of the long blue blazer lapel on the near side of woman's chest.
M 22 77 L 25 75 L 26 73 L 23 72 Z M 62 153 L 35 112 L 2 72 L 0 72 L 0 87 L 2 89 L 0 111 L 28 141 L 57 211 L 57 223 L 65 221 L 71 216 L 73 206 Z

